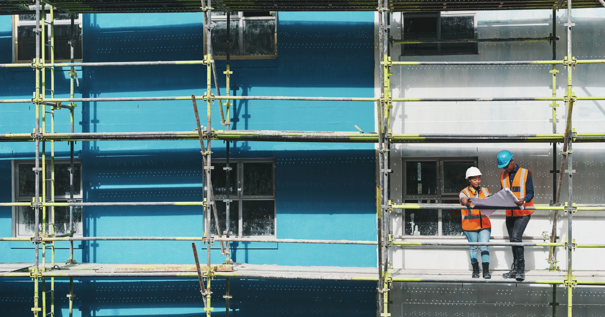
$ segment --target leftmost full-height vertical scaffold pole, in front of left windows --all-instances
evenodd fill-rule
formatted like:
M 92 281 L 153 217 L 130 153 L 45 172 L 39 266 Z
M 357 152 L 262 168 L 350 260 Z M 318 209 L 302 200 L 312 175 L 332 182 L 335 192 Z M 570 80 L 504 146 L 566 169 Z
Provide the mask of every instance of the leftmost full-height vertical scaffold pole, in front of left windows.
M 36 130 L 34 131 L 34 139 L 36 141 L 36 164 L 34 167 L 36 172 L 36 184 L 34 185 L 34 190 L 36 190 L 36 194 L 34 197 L 34 307 L 32 312 L 34 316 L 38 317 L 38 312 L 41 310 L 38 308 L 38 278 L 39 278 L 39 267 L 38 267 L 38 252 L 39 252 L 39 243 L 40 236 L 38 232 L 39 227 L 39 215 L 40 215 L 40 105 L 41 105 L 41 96 L 40 96 L 40 42 L 41 42 L 41 28 L 40 28 L 40 0 L 36 0 L 36 58 L 34 60 L 35 68 L 36 68 Z

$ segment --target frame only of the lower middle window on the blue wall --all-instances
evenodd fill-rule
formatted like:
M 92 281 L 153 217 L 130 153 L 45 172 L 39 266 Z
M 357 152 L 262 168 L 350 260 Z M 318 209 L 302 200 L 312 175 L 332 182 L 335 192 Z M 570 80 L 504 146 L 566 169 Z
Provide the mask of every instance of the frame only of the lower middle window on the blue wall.
M 212 164 L 214 165 L 215 163 L 226 163 L 227 159 L 225 158 L 217 158 L 217 159 L 212 159 Z M 239 238 L 267 238 L 267 239 L 274 239 L 277 236 L 277 199 L 276 199 L 276 169 L 275 169 L 275 165 L 276 165 L 276 160 L 275 158 L 230 158 L 229 159 L 229 163 L 233 164 L 236 163 L 236 172 L 237 172 L 237 179 L 236 179 L 236 194 L 234 197 L 234 194 L 229 195 L 229 199 L 231 199 L 232 201 L 238 201 L 238 232 L 237 234 L 234 232 L 233 236 L 238 236 Z M 273 195 L 244 195 L 243 193 L 243 178 L 244 178 L 244 163 L 271 163 L 273 165 L 272 169 L 273 169 Z M 231 173 L 233 173 L 234 171 L 232 170 Z M 228 186 L 228 184 L 227 184 Z M 205 189 L 206 189 L 206 182 L 205 182 L 205 176 L 204 176 L 204 193 L 205 193 Z M 227 189 L 228 190 L 228 189 Z M 215 201 L 219 201 L 219 200 L 223 200 L 226 199 L 227 196 L 226 195 L 215 195 Z M 267 236 L 246 236 L 243 235 L 243 230 L 244 230 L 244 219 L 243 219 L 243 201 L 267 201 L 267 200 L 272 200 L 273 201 L 273 235 L 267 235 Z M 230 210 L 230 212 L 232 212 L 232 210 Z M 206 214 L 204 212 L 204 229 L 206 229 L 206 232 L 208 232 L 208 224 L 206 223 L 208 218 L 206 218 Z

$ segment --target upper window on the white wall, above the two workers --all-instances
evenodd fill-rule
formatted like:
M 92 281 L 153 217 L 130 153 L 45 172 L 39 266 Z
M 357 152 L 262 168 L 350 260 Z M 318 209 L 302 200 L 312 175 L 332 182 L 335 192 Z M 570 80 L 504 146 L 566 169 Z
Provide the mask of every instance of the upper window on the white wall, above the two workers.
M 472 12 L 440 12 L 404 14 L 402 38 L 474 39 L 477 38 L 477 19 Z M 477 43 L 422 43 L 402 44 L 403 55 L 477 54 Z

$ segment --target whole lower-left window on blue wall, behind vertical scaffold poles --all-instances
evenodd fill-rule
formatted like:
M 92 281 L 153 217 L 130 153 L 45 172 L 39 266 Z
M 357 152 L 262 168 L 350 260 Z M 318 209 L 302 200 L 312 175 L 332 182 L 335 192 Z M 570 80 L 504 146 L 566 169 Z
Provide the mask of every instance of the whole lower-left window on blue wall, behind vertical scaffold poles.
M 32 202 L 36 195 L 36 166 L 34 160 L 13 161 L 13 201 Z M 68 159 L 54 160 L 54 201 L 67 202 L 70 199 L 70 161 Z M 45 178 L 51 179 L 50 160 L 46 161 Z M 41 175 L 41 178 L 43 175 Z M 42 197 L 42 181 L 40 180 L 40 195 Z M 50 181 L 47 181 L 46 201 L 50 201 Z M 41 198 L 42 199 L 42 198 Z M 74 200 L 82 201 L 82 161 L 74 161 Z M 51 221 L 51 208 L 46 208 L 47 224 Z M 82 207 L 74 207 L 73 221 L 76 235 L 82 235 Z M 13 236 L 31 236 L 35 227 L 35 211 L 32 207 L 13 207 Z M 70 231 L 70 208 L 54 207 L 54 233 L 56 235 Z M 39 214 L 39 229 L 42 230 L 42 212 Z M 49 228 L 47 227 L 47 230 Z

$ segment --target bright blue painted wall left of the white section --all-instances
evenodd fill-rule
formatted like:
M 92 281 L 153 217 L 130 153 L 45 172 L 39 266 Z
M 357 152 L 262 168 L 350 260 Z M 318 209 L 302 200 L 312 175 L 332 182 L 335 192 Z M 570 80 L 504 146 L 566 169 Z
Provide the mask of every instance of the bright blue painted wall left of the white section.
M 198 13 L 83 15 L 83 56 L 87 62 L 201 59 L 202 31 Z M 2 63 L 11 62 L 10 37 L 10 17 L 0 16 Z M 278 58 L 232 60 L 231 95 L 371 97 L 373 39 L 372 13 L 279 13 Z M 218 61 L 217 67 L 222 74 L 225 62 Z M 67 73 L 65 69 L 56 71 L 59 98 L 69 93 Z M 76 97 L 188 96 L 203 95 L 206 89 L 206 68 L 201 65 L 79 67 L 77 73 L 80 85 Z M 224 94 L 224 75 L 220 78 Z M 34 73 L 25 68 L 0 69 L 0 82 L 0 99 L 30 98 Z M 372 102 L 238 101 L 234 108 L 232 128 L 240 130 L 355 131 L 355 125 L 371 130 L 373 124 Z M 222 128 L 218 102 L 213 112 L 212 127 Z M 3 132 L 31 132 L 34 122 L 34 107 L 30 104 L 5 104 L 0 108 Z M 67 112 L 57 111 L 56 122 L 57 132 L 68 132 Z M 76 108 L 76 132 L 194 128 L 190 101 L 85 102 Z M 223 142 L 213 144 L 213 158 L 224 158 Z M 57 158 L 68 157 L 66 142 L 57 142 L 56 146 Z M 83 164 L 84 201 L 200 201 L 199 147 L 197 141 L 77 142 L 76 158 Z M 11 161 L 34 158 L 33 149 L 31 142 L 0 145 L 0 187 L 5 189 L 0 191 L 1 201 L 11 201 Z M 234 142 L 231 151 L 232 158 L 276 159 L 277 238 L 375 239 L 373 145 Z M 201 236 L 203 232 L 199 207 L 90 207 L 83 213 L 85 236 Z M 10 228 L 11 209 L 0 207 L 0 236 L 10 236 Z M 75 245 L 77 262 L 193 262 L 191 244 L 187 242 L 94 241 Z M 376 248 L 370 245 L 234 246 L 233 259 L 238 262 L 376 265 Z M 57 242 L 57 247 L 66 248 L 67 244 Z M 57 261 L 67 258 L 67 249 L 57 250 Z M 213 262 L 224 260 L 219 250 L 213 250 L 212 258 Z M 33 260 L 31 244 L 0 244 L 0 262 Z M 61 281 L 57 286 L 57 310 L 65 315 L 65 280 L 57 281 Z M 114 282 L 78 279 L 74 316 L 202 312 L 195 280 Z M 234 304 L 246 316 L 324 315 L 333 310 L 366 315 L 375 310 L 373 283 L 301 283 L 232 281 L 232 292 L 242 292 L 234 296 Z M 246 288 L 248 284 L 255 286 Z M 29 314 L 31 281 L 2 280 L 0 285 L 0 297 L 7 300 L 0 305 L 0 315 Z M 221 294 L 224 280 L 217 279 L 215 285 L 216 294 Z M 282 304 L 268 304 L 276 293 L 283 295 L 281 290 L 297 287 L 301 292 L 283 296 Z M 362 289 L 367 292 L 356 292 Z M 125 290 L 128 292 L 120 293 Z M 318 292 L 332 299 L 338 297 L 339 301 L 315 305 L 316 297 L 323 296 Z M 248 304 L 242 304 L 246 301 Z M 224 301 L 215 304 L 215 312 L 221 314 Z

